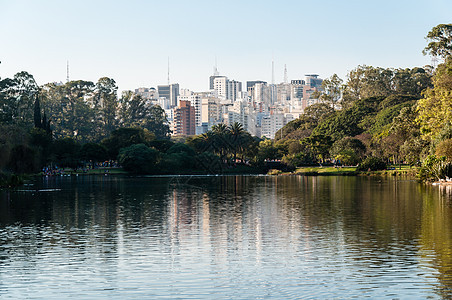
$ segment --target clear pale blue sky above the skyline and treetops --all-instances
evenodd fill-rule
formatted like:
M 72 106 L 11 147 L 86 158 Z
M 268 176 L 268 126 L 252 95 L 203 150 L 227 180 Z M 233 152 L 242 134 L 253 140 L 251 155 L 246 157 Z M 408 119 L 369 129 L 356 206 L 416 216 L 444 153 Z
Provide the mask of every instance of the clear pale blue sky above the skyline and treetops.
M 207 91 L 229 79 L 304 79 L 358 65 L 431 63 L 425 36 L 452 23 L 450 0 L 0 0 L 0 78 L 39 85 L 113 78 L 119 90 L 171 83 Z

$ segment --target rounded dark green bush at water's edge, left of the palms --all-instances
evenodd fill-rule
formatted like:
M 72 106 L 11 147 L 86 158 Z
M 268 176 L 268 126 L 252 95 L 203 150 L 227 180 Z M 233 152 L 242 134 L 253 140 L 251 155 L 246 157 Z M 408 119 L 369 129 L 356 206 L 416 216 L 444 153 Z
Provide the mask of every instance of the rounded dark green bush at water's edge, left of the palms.
M 133 174 L 155 173 L 159 152 L 144 144 L 132 145 L 119 151 L 118 161 L 125 171 Z

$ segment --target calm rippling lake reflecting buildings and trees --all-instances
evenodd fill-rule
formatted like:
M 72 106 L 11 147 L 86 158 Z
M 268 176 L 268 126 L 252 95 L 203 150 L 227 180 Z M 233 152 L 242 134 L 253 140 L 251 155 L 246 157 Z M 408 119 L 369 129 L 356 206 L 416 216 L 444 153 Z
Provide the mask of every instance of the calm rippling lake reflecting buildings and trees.
M 42 179 L 0 191 L 0 298 L 451 298 L 451 199 L 392 178 Z

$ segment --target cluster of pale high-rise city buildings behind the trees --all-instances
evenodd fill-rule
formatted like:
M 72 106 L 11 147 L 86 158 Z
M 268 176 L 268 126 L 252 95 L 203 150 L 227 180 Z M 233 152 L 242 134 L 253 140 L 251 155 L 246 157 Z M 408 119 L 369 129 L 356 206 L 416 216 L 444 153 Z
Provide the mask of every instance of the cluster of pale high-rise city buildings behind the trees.
M 173 135 L 202 134 L 219 123 L 239 122 L 250 134 L 273 139 L 281 127 L 317 103 L 312 93 L 321 85 L 318 75 L 308 74 L 279 84 L 247 81 L 245 87 L 215 71 L 206 92 L 168 84 L 138 88 L 135 93 L 165 110 Z

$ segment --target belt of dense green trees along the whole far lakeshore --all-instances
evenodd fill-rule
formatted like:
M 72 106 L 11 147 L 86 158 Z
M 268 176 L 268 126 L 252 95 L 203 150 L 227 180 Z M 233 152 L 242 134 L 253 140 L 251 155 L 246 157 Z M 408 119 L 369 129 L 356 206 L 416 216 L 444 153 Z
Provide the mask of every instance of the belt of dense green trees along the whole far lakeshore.
M 20 72 L 0 80 L 0 170 L 36 172 L 119 160 L 133 173 L 220 173 L 238 166 L 388 163 L 422 165 L 421 177 L 449 174 L 452 159 L 452 24 L 428 33 L 424 52 L 442 63 L 412 69 L 358 66 L 314 93 L 319 103 L 276 133 L 252 137 L 239 123 L 170 139 L 164 110 L 116 82 L 38 86 Z M 448 176 L 448 175 L 447 175 Z

